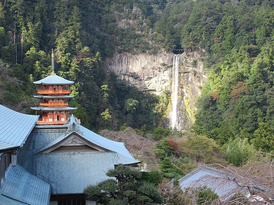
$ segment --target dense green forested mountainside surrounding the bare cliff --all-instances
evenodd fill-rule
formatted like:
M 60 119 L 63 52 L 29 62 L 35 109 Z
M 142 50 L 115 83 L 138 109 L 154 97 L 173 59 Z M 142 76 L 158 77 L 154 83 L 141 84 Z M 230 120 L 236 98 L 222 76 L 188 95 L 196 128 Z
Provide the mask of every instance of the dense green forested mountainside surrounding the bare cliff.
M 16 107 L 24 99 L 26 109 L 35 103 L 32 81 L 51 72 L 53 48 L 58 75 L 75 81 L 76 97 L 70 104 L 79 107 L 76 114 L 83 125 L 118 129 L 123 123 L 134 128 L 146 124 L 153 129 L 167 107 L 167 96 L 126 86 L 104 71 L 103 60 L 114 52 L 197 50 L 207 56 L 201 60 L 208 82 L 198 100 L 194 131 L 220 144 L 247 137 L 269 151 L 274 146 L 273 4 L 1 0 L 1 79 L 21 80 L 4 83 L 1 103 Z

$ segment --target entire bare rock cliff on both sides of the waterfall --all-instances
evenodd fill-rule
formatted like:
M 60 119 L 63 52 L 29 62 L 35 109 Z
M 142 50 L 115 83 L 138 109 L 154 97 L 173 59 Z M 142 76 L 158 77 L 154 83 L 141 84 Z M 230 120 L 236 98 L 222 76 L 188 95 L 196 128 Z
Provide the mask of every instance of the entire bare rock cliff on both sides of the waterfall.
M 128 84 L 159 95 L 165 88 L 171 93 L 173 55 L 166 52 L 156 55 L 116 54 L 104 63 L 107 71 L 114 72 Z M 196 100 L 206 83 L 206 74 L 202 71 L 200 58 L 196 51 L 180 54 L 177 96 L 179 130 L 188 130 L 195 121 Z M 170 117 L 171 115 L 167 115 L 164 119 L 164 127 L 170 127 Z

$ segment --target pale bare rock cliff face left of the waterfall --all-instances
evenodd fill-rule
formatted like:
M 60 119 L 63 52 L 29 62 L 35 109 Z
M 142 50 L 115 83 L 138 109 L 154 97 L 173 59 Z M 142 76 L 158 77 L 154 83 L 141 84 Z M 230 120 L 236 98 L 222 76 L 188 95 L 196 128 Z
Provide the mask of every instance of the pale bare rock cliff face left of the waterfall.
M 116 54 L 106 59 L 105 68 L 128 84 L 159 95 L 169 87 L 172 61 L 173 56 L 165 52 L 156 55 Z

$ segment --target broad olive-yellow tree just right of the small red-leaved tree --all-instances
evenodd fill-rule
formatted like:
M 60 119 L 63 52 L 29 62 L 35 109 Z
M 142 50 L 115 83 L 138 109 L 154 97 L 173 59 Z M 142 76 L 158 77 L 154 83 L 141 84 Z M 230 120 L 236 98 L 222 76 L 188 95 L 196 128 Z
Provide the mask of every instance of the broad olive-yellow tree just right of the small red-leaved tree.
M 189 136 L 184 142 L 179 142 L 179 151 L 182 156 L 192 157 L 198 162 L 212 161 L 219 146 L 213 139 L 205 136 L 193 135 Z

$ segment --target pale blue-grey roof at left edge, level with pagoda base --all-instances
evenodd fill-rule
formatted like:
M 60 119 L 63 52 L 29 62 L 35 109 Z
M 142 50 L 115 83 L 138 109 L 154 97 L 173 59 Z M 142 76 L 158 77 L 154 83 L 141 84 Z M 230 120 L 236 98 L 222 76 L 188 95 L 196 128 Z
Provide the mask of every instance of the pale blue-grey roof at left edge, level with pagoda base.
M 26 115 L 0 105 L 0 150 L 22 147 L 39 115 Z

